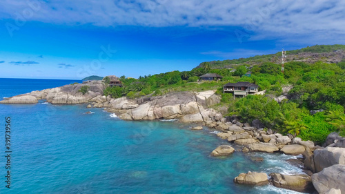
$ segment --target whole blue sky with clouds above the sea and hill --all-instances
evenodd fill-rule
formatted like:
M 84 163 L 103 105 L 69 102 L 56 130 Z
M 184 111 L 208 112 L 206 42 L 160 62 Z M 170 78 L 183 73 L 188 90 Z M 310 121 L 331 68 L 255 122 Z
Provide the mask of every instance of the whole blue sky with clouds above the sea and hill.
M 0 77 L 139 77 L 345 43 L 345 1 L 1 1 Z

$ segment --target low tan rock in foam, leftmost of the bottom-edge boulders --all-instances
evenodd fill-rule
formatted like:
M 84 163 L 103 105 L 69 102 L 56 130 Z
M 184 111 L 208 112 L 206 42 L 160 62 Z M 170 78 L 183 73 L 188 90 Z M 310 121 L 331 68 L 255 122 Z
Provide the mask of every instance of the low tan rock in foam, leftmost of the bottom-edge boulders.
M 264 185 L 268 184 L 268 177 L 266 173 L 248 172 L 241 173 L 234 179 L 235 183 L 238 184 L 253 184 L 253 185 Z

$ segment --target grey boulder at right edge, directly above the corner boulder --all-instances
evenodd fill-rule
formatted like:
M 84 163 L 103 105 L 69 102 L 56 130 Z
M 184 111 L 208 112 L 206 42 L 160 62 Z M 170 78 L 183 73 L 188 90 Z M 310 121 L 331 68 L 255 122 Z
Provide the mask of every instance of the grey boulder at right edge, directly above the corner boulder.
M 335 164 L 345 164 L 345 148 L 327 147 L 314 151 L 315 171 Z

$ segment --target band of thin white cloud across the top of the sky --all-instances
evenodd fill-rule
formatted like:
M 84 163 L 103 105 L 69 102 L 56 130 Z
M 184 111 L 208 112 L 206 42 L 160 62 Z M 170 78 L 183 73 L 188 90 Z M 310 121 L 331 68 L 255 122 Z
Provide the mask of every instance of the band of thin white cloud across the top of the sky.
M 39 1 L 37 10 L 27 2 L 4 0 L 0 17 L 16 19 L 18 13 L 31 9 L 27 20 L 71 26 L 229 26 L 246 32 L 250 39 L 334 39 L 345 34 L 345 1 L 337 0 L 47 0 Z

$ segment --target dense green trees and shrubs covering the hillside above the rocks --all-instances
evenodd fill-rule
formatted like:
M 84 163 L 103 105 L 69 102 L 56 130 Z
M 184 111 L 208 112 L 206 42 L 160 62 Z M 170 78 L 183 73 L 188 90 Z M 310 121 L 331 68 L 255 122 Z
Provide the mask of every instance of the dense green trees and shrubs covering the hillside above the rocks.
M 293 52 L 326 52 L 339 48 L 344 46 L 313 46 Z M 264 57 L 237 60 L 243 62 L 254 58 L 264 59 Z M 304 140 L 319 143 L 324 142 L 326 136 L 333 131 L 345 135 L 345 61 L 338 64 L 327 64 L 322 61 L 314 64 L 290 61 L 285 65 L 284 74 L 280 70 L 280 64 L 269 60 L 262 60 L 254 66 L 237 65 L 235 71 L 228 68 L 214 68 L 214 64 L 217 63 L 223 62 L 205 62 L 200 68 L 190 71 L 145 75 L 139 79 L 126 79 L 125 76 L 121 76 L 120 81 L 123 86 L 108 87 L 104 94 L 134 99 L 145 95 L 164 95 L 174 91 L 217 90 L 221 102 L 213 108 L 224 111 L 228 109 L 227 115 L 237 115 L 242 122 L 259 119 L 267 128 L 273 128 L 279 133 L 290 133 Z M 213 68 L 210 68 L 211 66 Z M 243 76 L 249 70 L 252 72 L 251 76 Z M 200 75 L 208 72 L 217 73 L 223 78 L 221 81 L 198 81 Z M 266 96 L 248 95 L 234 99 L 231 94 L 223 94 L 224 84 L 237 81 L 257 84 L 259 90 L 266 90 Z M 284 86 L 288 85 L 293 86 L 288 93 L 290 100 L 285 99 L 278 104 L 272 97 L 282 95 Z M 323 111 L 311 114 L 311 110 L 319 109 Z

